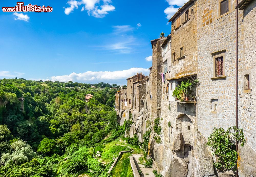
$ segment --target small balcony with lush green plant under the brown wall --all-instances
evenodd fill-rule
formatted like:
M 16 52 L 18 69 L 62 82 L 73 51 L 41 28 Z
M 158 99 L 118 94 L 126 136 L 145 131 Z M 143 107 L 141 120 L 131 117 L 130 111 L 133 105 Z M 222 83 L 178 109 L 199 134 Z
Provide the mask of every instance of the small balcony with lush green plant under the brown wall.
M 199 80 L 186 80 L 176 81 L 176 87 L 172 93 L 175 101 L 179 103 L 196 103 L 196 86 Z

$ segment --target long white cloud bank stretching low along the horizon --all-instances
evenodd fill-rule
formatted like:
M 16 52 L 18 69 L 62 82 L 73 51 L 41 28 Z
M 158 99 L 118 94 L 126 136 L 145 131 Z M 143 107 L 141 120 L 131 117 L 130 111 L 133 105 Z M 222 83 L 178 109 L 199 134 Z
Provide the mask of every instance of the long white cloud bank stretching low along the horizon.
M 52 76 L 49 79 L 51 81 L 60 81 L 60 82 L 108 82 L 108 81 L 118 81 L 129 78 L 130 76 L 136 74 L 137 72 L 142 72 L 144 75 L 148 74 L 148 69 L 145 68 L 131 68 L 128 70 L 122 71 L 87 71 L 84 73 L 71 73 L 69 75 L 61 75 L 61 76 Z M 123 81 L 122 81 L 123 82 Z

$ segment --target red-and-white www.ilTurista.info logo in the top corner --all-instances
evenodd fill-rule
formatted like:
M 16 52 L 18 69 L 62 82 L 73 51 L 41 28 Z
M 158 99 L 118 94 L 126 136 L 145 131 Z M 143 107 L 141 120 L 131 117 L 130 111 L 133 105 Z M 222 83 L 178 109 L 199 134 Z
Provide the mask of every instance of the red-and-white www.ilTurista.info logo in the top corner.
M 17 2 L 15 7 L 2 7 L 3 12 L 52 12 L 52 7 L 50 6 L 38 6 L 28 4 L 24 6 L 24 2 Z

